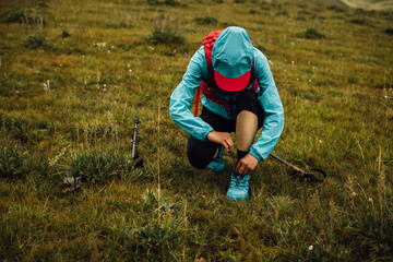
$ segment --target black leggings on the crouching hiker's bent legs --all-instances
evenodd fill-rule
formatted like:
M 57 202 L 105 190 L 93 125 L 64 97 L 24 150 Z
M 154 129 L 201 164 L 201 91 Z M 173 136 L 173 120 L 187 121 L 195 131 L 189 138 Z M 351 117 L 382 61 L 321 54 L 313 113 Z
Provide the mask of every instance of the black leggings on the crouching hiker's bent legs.
M 258 116 L 258 129 L 263 126 L 264 111 L 258 100 L 258 95 L 252 90 L 243 90 L 238 93 L 236 97 L 236 116 L 241 111 L 247 110 Z M 201 118 L 207 122 L 215 131 L 219 132 L 235 132 L 236 119 L 228 120 L 209 110 L 206 107 L 202 108 Z M 191 165 L 198 169 L 205 168 L 214 158 L 219 144 L 201 141 L 193 136 L 189 138 L 187 145 L 187 156 Z

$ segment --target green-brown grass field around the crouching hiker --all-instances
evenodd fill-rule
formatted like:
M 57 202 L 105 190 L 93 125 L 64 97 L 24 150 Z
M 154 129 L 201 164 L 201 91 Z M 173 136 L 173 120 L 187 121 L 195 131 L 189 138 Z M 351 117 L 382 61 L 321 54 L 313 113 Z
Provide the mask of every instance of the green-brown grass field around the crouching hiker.
M 392 261 L 393 14 L 329 1 L 0 2 L 1 261 Z M 238 25 L 285 109 L 252 198 L 193 169 L 169 96 L 211 31 Z M 138 117 L 139 151 L 131 140 Z M 62 193 L 64 177 L 82 187 Z

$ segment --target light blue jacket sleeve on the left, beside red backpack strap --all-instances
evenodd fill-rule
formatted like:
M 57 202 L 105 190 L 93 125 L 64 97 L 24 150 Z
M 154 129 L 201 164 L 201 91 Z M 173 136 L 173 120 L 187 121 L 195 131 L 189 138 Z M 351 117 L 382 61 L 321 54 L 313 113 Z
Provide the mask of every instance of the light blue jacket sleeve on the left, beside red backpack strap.
M 205 141 L 213 128 L 190 110 L 191 100 L 202 80 L 207 76 L 203 46 L 191 58 L 180 84 L 170 96 L 169 117 L 195 139 Z

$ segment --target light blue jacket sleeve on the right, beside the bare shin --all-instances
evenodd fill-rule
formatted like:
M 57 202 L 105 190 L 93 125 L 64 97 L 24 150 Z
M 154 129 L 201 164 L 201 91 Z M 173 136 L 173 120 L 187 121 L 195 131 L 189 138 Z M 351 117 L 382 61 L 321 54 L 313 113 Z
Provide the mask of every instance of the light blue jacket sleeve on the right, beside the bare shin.
M 262 133 L 251 146 L 250 154 L 261 162 L 273 151 L 283 132 L 284 108 L 267 59 L 259 50 L 255 58 L 255 78 L 260 86 L 258 100 L 264 109 L 265 119 Z

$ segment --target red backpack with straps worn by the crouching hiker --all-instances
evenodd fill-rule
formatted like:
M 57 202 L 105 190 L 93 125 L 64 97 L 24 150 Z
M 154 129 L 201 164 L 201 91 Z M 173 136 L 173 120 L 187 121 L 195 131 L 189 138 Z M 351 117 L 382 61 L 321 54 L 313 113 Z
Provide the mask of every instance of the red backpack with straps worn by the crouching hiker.
M 217 104 L 224 105 L 225 109 L 227 109 L 228 111 L 230 110 L 230 105 L 234 104 L 233 102 L 225 100 L 217 94 L 216 90 L 218 90 L 219 87 L 217 86 L 217 84 L 214 80 L 214 70 L 213 70 L 213 64 L 212 64 L 212 50 L 213 50 L 215 40 L 217 39 L 218 35 L 222 32 L 223 31 L 214 31 L 203 38 L 203 47 L 204 47 L 204 51 L 205 51 L 209 75 L 207 75 L 207 81 L 206 82 L 202 81 L 201 85 L 196 90 L 195 110 L 194 110 L 195 117 L 198 116 L 198 106 L 199 106 L 200 93 L 201 93 L 200 91 L 202 91 L 203 95 L 206 96 L 207 99 L 215 102 Z M 250 40 L 251 40 L 251 38 L 250 38 Z M 248 83 L 247 86 L 249 86 L 251 83 L 253 83 L 251 88 L 257 92 L 259 88 L 259 85 L 258 85 L 258 82 L 255 79 L 254 71 L 255 71 L 254 62 L 252 61 L 250 82 Z

